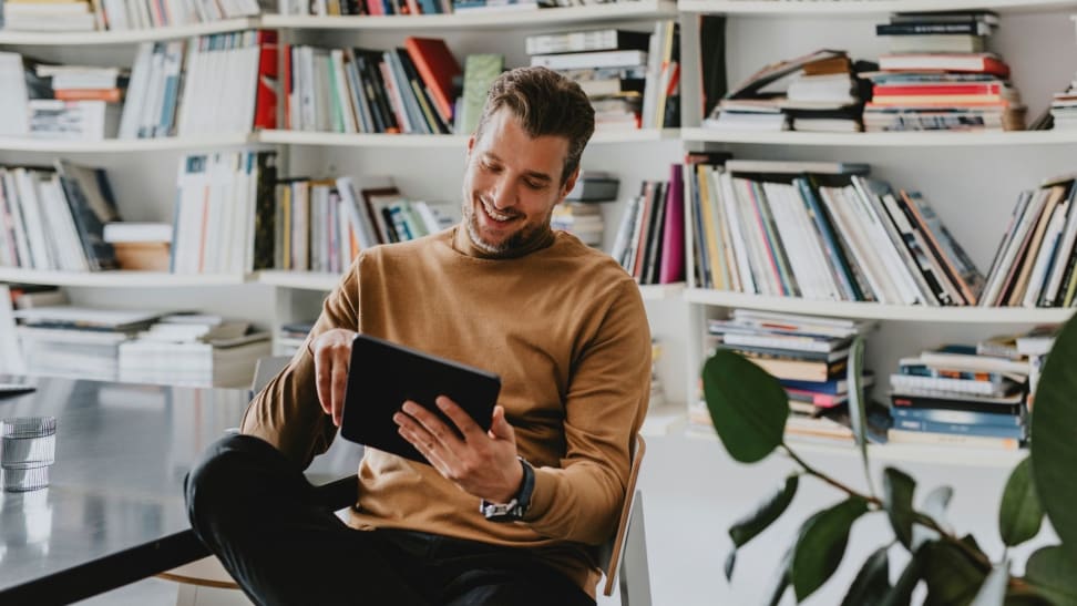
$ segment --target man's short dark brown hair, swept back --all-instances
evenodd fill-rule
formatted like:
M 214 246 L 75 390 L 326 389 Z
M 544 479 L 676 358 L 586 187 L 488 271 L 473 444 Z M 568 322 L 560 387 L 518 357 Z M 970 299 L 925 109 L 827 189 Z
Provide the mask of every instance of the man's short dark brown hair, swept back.
M 476 140 L 490 116 L 502 107 L 509 107 L 532 137 L 556 135 L 568 140 L 561 175 L 564 185 L 579 166 L 579 156 L 595 132 L 595 110 L 579 84 L 546 68 L 516 68 L 501 74 L 486 93 L 475 126 Z

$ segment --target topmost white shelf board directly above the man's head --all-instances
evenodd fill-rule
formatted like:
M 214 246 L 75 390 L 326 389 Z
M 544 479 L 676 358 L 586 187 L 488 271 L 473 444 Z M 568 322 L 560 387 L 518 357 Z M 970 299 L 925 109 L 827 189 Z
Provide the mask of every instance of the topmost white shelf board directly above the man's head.
M 661 0 L 617 2 L 587 7 L 510 10 L 476 14 L 390 14 L 384 17 L 312 17 L 265 14 L 261 27 L 279 29 L 419 30 L 474 28 L 531 28 L 588 21 L 625 21 L 676 17 L 677 6 Z

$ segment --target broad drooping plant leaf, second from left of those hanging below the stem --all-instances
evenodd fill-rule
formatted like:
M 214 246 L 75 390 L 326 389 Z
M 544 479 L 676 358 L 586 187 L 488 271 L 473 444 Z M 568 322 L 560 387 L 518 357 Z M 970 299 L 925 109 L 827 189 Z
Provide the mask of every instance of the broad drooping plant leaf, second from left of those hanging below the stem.
M 803 523 L 792 558 L 792 584 L 798 602 L 810 596 L 834 574 L 845 554 L 849 528 L 866 511 L 864 499 L 850 496 Z

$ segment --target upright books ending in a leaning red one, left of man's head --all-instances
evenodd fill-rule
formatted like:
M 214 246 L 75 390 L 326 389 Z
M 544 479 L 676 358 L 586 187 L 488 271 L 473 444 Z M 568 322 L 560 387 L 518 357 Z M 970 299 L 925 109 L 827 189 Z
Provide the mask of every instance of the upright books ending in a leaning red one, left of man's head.
M 284 60 L 286 129 L 452 132 L 463 72 L 440 38 L 408 37 L 386 51 L 285 45 Z

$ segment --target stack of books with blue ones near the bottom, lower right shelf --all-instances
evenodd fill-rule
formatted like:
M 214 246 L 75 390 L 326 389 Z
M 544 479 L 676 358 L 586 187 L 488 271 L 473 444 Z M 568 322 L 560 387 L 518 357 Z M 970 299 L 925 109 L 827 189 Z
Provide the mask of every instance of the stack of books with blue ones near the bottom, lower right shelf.
M 951 345 L 903 358 L 890 377 L 892 443 L 1014 450 L 1028 439 L 1028 363 Z

